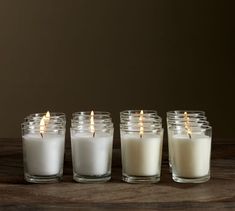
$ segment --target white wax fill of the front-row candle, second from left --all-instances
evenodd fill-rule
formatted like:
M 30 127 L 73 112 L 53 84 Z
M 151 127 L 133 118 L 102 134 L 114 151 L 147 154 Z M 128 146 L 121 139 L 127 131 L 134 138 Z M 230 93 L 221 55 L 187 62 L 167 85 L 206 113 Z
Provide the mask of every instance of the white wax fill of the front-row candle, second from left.
M 113 137 L 109 134 L 71 135 L 73 171 L 79 175 L 109 173 L 112 160 Z

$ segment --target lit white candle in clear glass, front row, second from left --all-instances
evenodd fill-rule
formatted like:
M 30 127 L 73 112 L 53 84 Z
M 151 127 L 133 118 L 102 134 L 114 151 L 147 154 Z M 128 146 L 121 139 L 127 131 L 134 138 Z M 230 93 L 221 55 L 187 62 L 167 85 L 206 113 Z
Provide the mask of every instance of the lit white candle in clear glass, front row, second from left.
M 73 179 L 76 182 L 106 182 L 111 179 L 113 123 L 111 117 L 110 121 L 96 121 L 96 112 L 92 118 L 92 121 L 71 122 Z

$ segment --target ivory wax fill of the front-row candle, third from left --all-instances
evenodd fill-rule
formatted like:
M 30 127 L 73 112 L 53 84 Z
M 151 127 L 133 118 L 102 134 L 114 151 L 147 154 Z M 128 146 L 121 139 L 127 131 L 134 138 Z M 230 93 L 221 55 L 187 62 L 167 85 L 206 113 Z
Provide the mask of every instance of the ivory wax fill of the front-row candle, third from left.
M 123 134 L 121 138 L 123 173 L 129 176 L 160 175 L 162 137 L 154 134 Z

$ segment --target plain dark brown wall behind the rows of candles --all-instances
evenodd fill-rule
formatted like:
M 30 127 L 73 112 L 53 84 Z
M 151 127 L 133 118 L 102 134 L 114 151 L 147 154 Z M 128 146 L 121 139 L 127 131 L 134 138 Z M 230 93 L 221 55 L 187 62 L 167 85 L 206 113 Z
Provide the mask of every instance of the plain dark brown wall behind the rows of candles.
M 234 138 L 232 1 L 0 0 L 0 137 L 34 112 L 201 109 Z M 232 113 L 233 112 L 233 113 Z

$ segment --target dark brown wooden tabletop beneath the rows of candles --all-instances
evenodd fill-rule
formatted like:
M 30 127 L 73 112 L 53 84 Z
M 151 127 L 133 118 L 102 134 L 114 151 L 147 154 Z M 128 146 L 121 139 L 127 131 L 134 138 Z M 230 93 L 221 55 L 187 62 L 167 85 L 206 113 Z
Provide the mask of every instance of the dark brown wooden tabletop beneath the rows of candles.
M 23 180 L 20 139 L 0 139 L 0 209 L 60 210 L 235 210 L 235 142 L 216 140 L 212 152 L 212 178 L 203 184 L 178 184 L 168 171 L 164 147 L 161 181 L 127 184 L 121 181 L 120 150 L 113 153 L 112 180 L 79 184 L 72 180 L 67 141 L 64 180 L 55 184 L 28 184 Z

